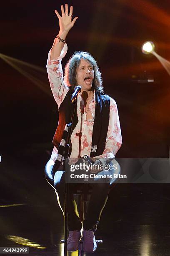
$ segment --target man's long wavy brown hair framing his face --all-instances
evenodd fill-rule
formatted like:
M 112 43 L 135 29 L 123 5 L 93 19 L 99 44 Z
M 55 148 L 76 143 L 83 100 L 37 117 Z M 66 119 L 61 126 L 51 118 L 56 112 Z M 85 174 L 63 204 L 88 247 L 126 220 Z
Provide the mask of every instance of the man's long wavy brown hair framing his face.
M 67 64 L 65 65 L 65 76 L 64 76 L 64 82 L 68 87 L 74 88 L 77 86 L 76 81 L 76 69 L 80 64 L 80 60 L 84 59 L 93 66 L 94 69 L 94 79 L 92 82 L 92 88 L 97 92 L 103 92 L 102 87 L 102 77 L 101 72 L 99 71 L 99 68 L 97 66 L 97 62 L 92 57 L 91 54 L 85 51 L 76 51 L 70 59 L 67 61 Z

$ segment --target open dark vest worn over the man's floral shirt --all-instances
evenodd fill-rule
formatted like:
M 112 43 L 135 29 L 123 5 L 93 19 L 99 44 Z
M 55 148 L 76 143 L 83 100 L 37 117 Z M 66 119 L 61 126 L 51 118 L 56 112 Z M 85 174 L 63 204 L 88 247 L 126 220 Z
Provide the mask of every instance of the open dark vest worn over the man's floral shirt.
M 56 146 L 56 148 L 58 148 L 60 145 L 65 124 L 70 123 L 72 114 L 72 103 L 70 102 L 71 95 L 72 90 L 69 90 L 58 110 L 58 126 L 52 140 L 52 143 Z M 110 97 L 108 95 L 105 95 L 104 93 L 95 92 L 95 120 L 92 131 L 92 149 L 90 157 L 101 155 L 105 149 L 105 142 L 109 125 L 109 116 Z M 75 111 L 72 131 L 74 130 L 77 123 L 77 111 Z

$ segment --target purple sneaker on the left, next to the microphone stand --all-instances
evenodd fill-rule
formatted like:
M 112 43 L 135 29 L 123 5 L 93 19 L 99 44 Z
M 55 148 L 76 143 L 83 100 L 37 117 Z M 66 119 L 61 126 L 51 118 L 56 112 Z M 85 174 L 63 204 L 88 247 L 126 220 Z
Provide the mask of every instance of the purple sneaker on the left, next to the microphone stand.
M 77 231 L 77 230 L 69 231 L 69 236 L 67 240 L 67 251 L 77 251 L 80 238 L 81 238 L 80 231 Z

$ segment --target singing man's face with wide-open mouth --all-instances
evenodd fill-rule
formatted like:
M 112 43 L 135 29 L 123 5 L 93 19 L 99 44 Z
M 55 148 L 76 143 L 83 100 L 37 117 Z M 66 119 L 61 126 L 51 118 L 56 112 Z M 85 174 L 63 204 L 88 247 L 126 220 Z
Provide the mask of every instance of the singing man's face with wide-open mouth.
M 82 87 L 82 90 L 91 90 L 92 81 L 94 79 L 94 70 L 92 64 L 85 59 L 80 60 L 80 64 L 76 70 L 77 85 Z

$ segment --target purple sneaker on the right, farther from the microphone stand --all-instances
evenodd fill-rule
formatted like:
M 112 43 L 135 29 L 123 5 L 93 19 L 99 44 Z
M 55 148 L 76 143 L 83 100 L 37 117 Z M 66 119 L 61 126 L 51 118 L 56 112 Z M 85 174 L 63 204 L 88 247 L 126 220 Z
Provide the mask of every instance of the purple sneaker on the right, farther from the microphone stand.
M 83 250 L 86 253 L 94 253 L 97 248 L 94 232 L 92 230 L 83 229 L 82 236 L 83 236 Z

